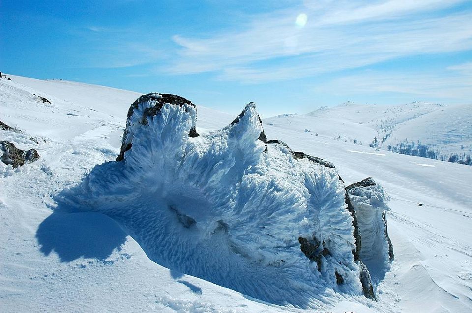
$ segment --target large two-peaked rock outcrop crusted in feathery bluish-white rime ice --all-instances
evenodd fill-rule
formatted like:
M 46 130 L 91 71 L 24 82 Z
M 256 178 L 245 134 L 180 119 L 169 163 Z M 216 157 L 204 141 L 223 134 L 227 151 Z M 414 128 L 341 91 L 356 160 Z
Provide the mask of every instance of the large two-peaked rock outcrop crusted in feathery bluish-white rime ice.
M 95 166 L 59 203 L 112 217 L 159 264 L 270 303 L 363 294 L 370 277 L 354 260 L 334 166 L 267 142 L 253 103 L 207 135 L 196 121 L 182 97 L 141 96 L 117 161 Z

